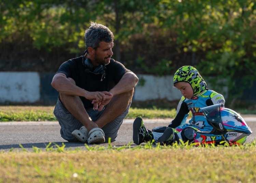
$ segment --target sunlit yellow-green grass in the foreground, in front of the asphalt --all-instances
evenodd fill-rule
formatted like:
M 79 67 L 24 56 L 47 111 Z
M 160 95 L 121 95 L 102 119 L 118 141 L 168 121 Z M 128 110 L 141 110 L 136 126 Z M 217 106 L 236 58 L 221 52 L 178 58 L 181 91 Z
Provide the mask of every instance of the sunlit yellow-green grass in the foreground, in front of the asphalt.
M 0 182 L 256 182 L 255 142 L 1 152 Z M 58 150 L 62 148 L 62 150 Z

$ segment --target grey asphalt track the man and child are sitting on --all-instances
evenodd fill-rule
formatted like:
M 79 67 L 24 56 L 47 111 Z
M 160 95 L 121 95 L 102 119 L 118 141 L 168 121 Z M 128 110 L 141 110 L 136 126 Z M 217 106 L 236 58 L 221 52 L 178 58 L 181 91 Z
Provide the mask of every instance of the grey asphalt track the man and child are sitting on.
M 256 133 L 256 116 L 244 117 L 252 131 Z M 156 126 L 166 126 L 171 119 L 167 120 L 144 120 L 145 126 L 152 129 Z M 122 124 L 115 142 L 112 146 L 123 146 L 132 142 L 132 123 L 133 120 L 125 120 Z M 70 143 L 62 139 L 60 136 L 60 126 L 58 122 L 2 122 L 0 123 L 0 151 L 9 151 L 11 148 L 22 150 L 24 148 L 31 151 L 32 146 L 45 148 L 49 142 L 55 142 L 61 145 L 65 143 L 66 148 L 81 148 L 85 149 L 83 143 Z M 246 142 L 252 142 L 256 139 L 255 133 L 248 136 Z M 107 146 L 108 144 L 101 144 Z M 135 144 L 134 144 L 135 146 Z

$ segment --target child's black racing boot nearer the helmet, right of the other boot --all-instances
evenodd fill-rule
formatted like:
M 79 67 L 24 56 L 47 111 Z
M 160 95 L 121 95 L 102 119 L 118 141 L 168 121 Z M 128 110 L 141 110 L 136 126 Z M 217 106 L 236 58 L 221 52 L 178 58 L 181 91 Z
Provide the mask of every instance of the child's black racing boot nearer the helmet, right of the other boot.
M 179 136 L 176 133 L 176 130 L 170 127 L 167 127 L 162 136 L 158 138 L 158 142 L 161 145 L 172 145 L 175 141 L 179 143 Z

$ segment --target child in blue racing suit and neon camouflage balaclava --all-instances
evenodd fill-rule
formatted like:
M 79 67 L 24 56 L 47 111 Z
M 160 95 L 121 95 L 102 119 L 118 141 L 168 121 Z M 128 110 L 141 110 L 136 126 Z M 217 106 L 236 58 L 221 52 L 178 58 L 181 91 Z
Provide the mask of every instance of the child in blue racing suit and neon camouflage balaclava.
M 177 114 L 168 127 L 155 127 L 151 130 L 145 128 L 140 116 L 133 122 L 133 142 L 141 144 L 155 140 L 161 144 L 172 144 L 182 139 L 184 142 L 193 142 L 197 130 L 211 131 L 213 127 L 207 122 L 200 108 L 214 104 L 225 104 L 224 97 L 207 85 L 196 68 L 183 66 L 173 76 L 174 87 L 183 95 L 177 106 Z M 189 124 L 186 119 L 189 111 L 192 118 Z

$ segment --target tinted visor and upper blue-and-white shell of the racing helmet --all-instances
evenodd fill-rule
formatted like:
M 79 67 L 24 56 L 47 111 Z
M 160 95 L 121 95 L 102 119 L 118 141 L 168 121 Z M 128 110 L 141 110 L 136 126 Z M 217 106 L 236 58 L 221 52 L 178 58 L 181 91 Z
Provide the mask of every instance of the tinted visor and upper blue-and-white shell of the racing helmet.
M 202 108 L 208 123 L 219 132 L 237 131 L 251 134 L 251 128 L 243 117 L 232 109 L 225 108 L 222 104 Z

